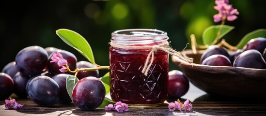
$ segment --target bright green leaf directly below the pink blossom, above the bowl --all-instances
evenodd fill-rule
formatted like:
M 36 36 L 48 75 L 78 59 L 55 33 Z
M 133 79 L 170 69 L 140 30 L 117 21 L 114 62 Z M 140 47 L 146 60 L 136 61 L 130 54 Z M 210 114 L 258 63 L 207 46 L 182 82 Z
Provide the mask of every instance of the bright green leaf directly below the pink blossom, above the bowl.
M 202 35 L 203 43 L 208 44 L 208 45 L 213 43 L 215 41 L 215 38 L 217 36 L 217 33 L 218 33 L 220 27 L 221 27 L 221 25 L 216 25 L 216 26 L 210 26 L 210 27 L 206 28 L 203 31 L 203 35 Z M 222 38 L 224 35 L 226 35 L 228 32 L 230 32 L 234 28 L 235 27 L 224 25 L 222 30 L 221 30 L 219 38 Z

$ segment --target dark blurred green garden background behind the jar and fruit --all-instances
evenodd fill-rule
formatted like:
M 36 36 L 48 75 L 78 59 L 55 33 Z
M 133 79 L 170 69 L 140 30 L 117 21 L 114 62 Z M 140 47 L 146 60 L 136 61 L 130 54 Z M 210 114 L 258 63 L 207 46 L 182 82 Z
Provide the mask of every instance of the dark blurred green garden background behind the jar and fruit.
M 239 11 L 238 19 L 226 22 L 235 29 L 224 38 L 236 45 L 248 32 L 266 29 L 266 0 L 230 0 Z M 31 45 L 53 46 L 86 60 L 55 34 L 71 29 L 91 45 L 99 65 L 109 65 L 108 43 L 118 29 L 159 29 L 166 31 L 173 49 L 181 51 L 195 34 L 213 22 L 214 0 L 3 0 L 0 4 L 0 70 L 16 54 Z M 199 41 L 200 43 L 200 41 Z M 171 58 L 170 58 L 171 59 Z M 170 60 L 170 70 L 178 67 Z M 101 73 L 103 75 L 103 73 Z

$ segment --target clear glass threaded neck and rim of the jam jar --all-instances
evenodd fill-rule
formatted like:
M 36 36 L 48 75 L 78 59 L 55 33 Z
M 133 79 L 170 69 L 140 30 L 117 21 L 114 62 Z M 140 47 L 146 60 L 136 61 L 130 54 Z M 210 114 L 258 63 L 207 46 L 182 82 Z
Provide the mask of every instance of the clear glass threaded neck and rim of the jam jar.
M 158 45 L 167 42 L 165 31 L 157 29 L 123 29 L 112 32 L 111 42 L 123 45 Z

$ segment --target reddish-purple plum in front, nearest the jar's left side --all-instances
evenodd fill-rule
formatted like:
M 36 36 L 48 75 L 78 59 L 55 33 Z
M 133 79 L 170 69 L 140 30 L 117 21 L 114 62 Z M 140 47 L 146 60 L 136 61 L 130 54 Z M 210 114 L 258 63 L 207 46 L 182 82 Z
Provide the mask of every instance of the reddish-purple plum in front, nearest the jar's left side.
M 82 110 L 98 108 L 104 98 L 104 84 L 100 79 L 93 76 L 79 80 L 72 92 L 73 102 Z

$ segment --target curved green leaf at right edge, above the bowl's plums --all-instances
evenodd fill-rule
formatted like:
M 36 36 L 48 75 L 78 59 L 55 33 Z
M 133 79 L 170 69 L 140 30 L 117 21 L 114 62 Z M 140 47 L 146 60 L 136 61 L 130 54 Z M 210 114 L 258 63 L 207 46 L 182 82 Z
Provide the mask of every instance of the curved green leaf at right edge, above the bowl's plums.
M 236 45 L 238 49 L 242 49 L 246 43 L 248 43 L 251 39 L 264 37 L 266 38 L 266 29 L 256 29 L 246 34 L 240 42 Z

